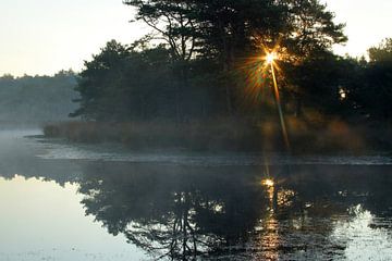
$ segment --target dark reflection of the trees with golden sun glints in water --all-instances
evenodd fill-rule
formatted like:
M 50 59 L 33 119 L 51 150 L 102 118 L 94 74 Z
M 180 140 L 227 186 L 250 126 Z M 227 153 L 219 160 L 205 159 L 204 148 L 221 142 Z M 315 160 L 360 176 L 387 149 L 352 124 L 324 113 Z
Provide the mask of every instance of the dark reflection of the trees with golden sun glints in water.
M 86 214 L 157 259 L 335 258 L 346 243 L 330 237 L 334 221 L 358 203 L 379 212 L 366 198 L 379 201 L 380 183 L 326 170 L 273 167 L 266 187 L 258 167 L 101 162 L 85 167 L 79 192 Z

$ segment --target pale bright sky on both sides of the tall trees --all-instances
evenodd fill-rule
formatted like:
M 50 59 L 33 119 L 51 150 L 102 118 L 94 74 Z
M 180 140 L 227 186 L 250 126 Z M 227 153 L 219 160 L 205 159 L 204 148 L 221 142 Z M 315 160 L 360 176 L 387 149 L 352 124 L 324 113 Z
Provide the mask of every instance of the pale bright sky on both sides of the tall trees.
M 334 47 L 353 57 L 392 37 L 391 0 L 323 0 L 346 23 L 348 42 Z M 130 23 L 134 12 L 122 0 L 1 0 L 0 75 L 52 75 L 83 69 L 85 60 L 111 39 L 131 44 L 148 27 Z

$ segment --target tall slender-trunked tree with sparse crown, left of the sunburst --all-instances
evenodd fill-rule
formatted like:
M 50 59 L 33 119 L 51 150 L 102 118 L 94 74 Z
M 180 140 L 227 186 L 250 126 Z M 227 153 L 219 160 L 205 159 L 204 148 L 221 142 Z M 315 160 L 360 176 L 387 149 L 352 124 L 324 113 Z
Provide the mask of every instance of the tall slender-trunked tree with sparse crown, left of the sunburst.
M 188 61 L 197 45 L 194 5 L 191 1 L 125 0 L 125 4 L 137 8 L 136 20 L 154 28 L 154 38 L 169 45 L 173 70 L 179 83 L 175 85 L 176 121 L 183 120 L 183 89 L 188 86 Z

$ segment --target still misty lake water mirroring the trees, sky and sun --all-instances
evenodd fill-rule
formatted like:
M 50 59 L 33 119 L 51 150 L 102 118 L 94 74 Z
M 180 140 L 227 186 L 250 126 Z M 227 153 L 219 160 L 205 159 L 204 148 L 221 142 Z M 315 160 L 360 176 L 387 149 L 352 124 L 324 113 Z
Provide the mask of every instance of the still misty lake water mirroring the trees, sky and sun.
M 30 134 L 0 133 L 0 260 L 392 259 L 389 157 L 126 154 Z

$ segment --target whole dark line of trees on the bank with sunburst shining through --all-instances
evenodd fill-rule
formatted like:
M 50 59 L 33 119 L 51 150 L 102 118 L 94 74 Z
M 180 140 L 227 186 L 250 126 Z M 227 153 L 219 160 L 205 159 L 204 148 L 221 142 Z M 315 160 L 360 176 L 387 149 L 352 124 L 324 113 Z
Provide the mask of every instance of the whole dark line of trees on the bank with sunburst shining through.
M 391 119 L 392 39 L 369 60 L 338 57 L 344 24 L 318 0 L 125 0 L 151 33 L 132 45 L 109 41 L 85 62 L 72 116 L 133 121 L 274 112 L 264 58 L 278 55 L 286 114 L 307 108 L 347 119 Z

